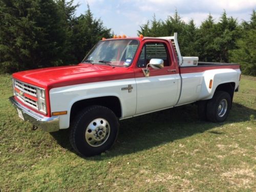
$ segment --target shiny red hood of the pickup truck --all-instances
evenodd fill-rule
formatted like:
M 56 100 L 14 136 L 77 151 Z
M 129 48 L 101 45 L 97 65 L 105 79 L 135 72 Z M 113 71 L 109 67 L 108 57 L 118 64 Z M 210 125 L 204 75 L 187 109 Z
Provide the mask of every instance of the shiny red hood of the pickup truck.
M 79 64 L 22 71 L 14 73 L 12 76 L 34 86 L 51 89 L 72 84 L 132 78 L 134 73 L 133 68 Z

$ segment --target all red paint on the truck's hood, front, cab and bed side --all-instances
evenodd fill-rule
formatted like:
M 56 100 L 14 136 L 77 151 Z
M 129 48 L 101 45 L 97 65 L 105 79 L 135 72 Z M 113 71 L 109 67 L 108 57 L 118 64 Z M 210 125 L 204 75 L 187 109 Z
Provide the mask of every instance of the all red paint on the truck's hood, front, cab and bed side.
M 120 38 L 118 38 L 120 39 Z M 118 39 L 105 39 L 105 40 L 118 40 Z M 50 96 L 49 91 L 52 88 L 72 86 L 74 84 L 90 83 L 90 82 L 100 82 L 118 79 L 127 79 L 135 77 L 144 77 L 141 68 L 137 67 L 137 60 L 139 59 L 141 49 L 145 42 L 164 42 L 169 52 L 170 56 L 170 66 L 166 66 L 161 70 L 150 69 L 151 76 L 157 75 L 169 75 L 176 73 L 196 73 L 203 72 L 210 69 L 239 69 L 239 65 L 228 65 L 228 66 L 202 66 L 202 67 L 186 67 L 179 68 L 177 62 L 177 55 L 175 53 L 174 47 L 169 40 L 151 38 L 151 37 L 136 37 L 136 38 L 125 38 L 125 39 L 136 39 L 140 42 L 135 58 L 130 67 L 115 67 L 106 65 L 92 65 L 80 63 L 76 66 L 65 66 L 65 67 L 51 67 L 42 68 L 29 71 L 22 71 L 14 73 L 13 78 L 32 84 L 34 86 L 44 88 L 46 90 L 46 103 L 47 103 L 47 115 L 34 110 L 26 105 L 32 111 L 39 112 L 44 116 L 51 116 L 51 106 L 50 106 Z M 176 70 L 175 72 L 170 72 L 170 70 Z M 35 98 L 30 95 L 26 95 L 33 100 Z M 15 97 L 16 98 L 16 97 Z M 20 102 L 18 99 L 16 99 Z M 24 105 L 24 103 L 20 102 Z

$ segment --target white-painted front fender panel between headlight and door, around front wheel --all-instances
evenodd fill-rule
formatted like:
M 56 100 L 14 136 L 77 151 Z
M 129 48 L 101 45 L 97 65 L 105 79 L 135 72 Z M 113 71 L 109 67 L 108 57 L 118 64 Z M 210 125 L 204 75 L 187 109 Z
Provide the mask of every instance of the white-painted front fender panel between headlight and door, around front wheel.
M 129 93 L 128 90 L 121 90 L 121 88 L 127 87 L 129 84 L 133 87 L 132 92 Z M 69 127 L 72 105 L 76 101 L 96 97 L 116 96 L 121 103 L 122 118 L 130 117 L 136 111 L 136 90 L 134 78 L 54 88 L 50 90 L 51 111 L 68 111 L 67 115 L 60 116 L 60 129 L 66 129 Z

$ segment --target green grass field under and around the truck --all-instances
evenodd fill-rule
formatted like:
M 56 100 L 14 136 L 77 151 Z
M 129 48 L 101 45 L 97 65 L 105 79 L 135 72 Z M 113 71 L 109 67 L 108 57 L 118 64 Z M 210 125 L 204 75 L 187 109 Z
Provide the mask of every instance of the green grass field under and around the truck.
M 256 191 L 256 78 L 242 76 L 224 123 L 198 120 L 195 105 L 120 122 L 117 143 L 81 158 L 68 130 L 31 131 L 0 75 L 0 191 Z

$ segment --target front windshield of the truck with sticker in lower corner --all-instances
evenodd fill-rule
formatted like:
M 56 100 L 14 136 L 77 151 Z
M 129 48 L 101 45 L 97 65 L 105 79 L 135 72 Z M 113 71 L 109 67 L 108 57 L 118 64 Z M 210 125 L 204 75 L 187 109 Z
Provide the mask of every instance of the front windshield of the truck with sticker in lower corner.
M 82 62 L 118 67 L 129 67 L 139 42 L 131 39 L 99 41 Z

